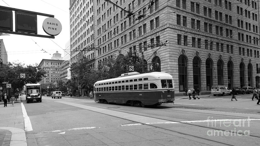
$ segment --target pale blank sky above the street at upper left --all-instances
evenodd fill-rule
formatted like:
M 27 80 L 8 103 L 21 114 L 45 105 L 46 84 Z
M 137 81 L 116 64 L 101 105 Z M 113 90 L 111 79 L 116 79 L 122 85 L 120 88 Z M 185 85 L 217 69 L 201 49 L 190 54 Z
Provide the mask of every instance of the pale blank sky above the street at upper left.
M 69 0 L 0 0 L 0 5 L 51 14 L 62 24 L 62 31 L 55 36 L 55 39 L 16 34 L 0 35 L 8 52 L 9 62 L 20 62 L 25 65 L 39 64 L 42 59 L 51 59 L 56 51 L 64 57 L 63 49 L 70 39 Z M 38 34 L 40 35 L 48 35 L 42 29 L 45 18 L 47 17 L 37 16 Z M 14 20 L 13 17 L 13 24 Z M 15 30 L 15 27 L 13 29 Z

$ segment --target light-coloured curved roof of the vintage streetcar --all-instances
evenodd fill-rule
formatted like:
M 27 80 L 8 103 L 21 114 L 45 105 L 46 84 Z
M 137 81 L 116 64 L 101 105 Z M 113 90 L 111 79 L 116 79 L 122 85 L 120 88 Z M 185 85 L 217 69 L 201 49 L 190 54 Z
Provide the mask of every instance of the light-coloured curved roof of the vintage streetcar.
M 97 81 L 96 84 L 100 83 L 107 83 L 107 82 L 114 82 L 114 81 L 123 81 L 123 80 L 128 80 L 128 79 L 135 79 L 135 78 L 144 78 L 144 77 L 150 77 L 148 80 L 154 80 L 154 79 L 172 79 L 173 77 L 165 72 L 149 72 L 149 73 L 144 73 L 144 74 L 134 74 L 130 76 L 122 76 L 122 77 L 117 77 L 117 78 L 110 78 L 107 80 L 101 80 Z

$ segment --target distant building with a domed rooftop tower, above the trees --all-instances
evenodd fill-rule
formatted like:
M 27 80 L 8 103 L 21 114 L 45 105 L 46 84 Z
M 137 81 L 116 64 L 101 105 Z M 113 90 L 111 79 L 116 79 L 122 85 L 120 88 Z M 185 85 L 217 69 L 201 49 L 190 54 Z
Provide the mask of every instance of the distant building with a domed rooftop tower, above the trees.
M 39 83 L 57 83 L 61 79 L 62 62 L 61 54 L 58 52 L 53 54 L 52 59 L 42 59 L 39 67 L 46 71 L 46 77 Z

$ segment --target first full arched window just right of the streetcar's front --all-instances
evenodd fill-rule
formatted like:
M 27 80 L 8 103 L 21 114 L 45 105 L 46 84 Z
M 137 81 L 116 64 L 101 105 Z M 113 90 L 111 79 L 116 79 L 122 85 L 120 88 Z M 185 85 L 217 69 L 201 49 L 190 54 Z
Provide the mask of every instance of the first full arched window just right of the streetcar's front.
M 179 91 L 185 91 L 187 89 L 187 61 L 183 55 L 178 59 L 179 65 Z

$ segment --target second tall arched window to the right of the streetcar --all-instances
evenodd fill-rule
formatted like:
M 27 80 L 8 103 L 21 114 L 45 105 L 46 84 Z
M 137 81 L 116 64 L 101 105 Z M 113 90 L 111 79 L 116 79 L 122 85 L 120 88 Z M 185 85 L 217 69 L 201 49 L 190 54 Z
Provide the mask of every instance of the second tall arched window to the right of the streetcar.
M 198 57 L 193 59 L 193 87 L 194 89 L 200 89 L 200 61 Z M 201 90 L 201 89 L 200 89 Z

